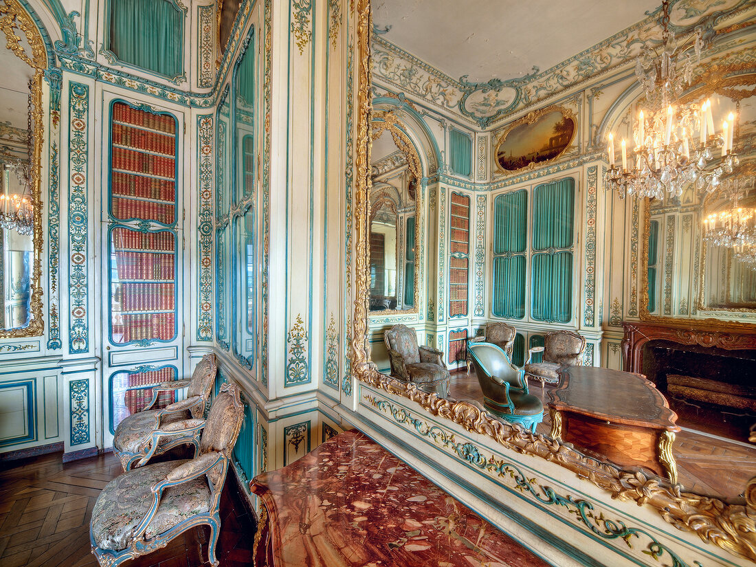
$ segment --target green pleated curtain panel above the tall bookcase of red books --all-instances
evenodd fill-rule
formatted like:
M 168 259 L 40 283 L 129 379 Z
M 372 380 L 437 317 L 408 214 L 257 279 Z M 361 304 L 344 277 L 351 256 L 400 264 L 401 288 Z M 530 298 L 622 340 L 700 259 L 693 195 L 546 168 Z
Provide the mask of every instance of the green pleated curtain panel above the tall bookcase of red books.
M 175 77 L 184 70 L 184 12 L 168 0 L 110 0 L 110 51 L 124 63 Z

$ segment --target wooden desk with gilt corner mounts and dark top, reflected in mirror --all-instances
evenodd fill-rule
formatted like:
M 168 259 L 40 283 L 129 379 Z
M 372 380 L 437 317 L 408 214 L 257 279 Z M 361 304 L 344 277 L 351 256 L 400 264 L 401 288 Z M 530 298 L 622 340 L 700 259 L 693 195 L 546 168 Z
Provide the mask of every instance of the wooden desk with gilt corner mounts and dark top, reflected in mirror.
M 677 483 L 677 414 L 640 374 L 585 366 L 559 372 L 549 392 L 551 435 L 619 466 L 645 466 Z

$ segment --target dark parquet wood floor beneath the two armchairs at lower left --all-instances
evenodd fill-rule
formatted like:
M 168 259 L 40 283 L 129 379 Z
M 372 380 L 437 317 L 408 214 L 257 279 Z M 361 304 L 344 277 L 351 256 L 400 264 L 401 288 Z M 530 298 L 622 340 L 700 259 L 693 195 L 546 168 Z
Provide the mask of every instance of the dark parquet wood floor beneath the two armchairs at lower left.
M 2 463 L 0 565 L 96 567 L 89 520 L 98 494 L 122 469 L 111 453 L 62 463 L 60 453 Z M 252 565 L 255 519 L 228 476 L 221 497 L 222 567 Z M 128 567 L 197 567 L 207 562 L 209 528 L 185 531 L 162 550 L 126 562 Z

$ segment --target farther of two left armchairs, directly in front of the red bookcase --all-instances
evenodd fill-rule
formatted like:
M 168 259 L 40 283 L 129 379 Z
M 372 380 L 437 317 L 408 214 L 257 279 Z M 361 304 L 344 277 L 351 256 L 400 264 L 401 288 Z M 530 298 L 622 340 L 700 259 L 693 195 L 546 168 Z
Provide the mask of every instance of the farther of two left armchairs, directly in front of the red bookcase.
M 205 407 L 210 398 L 218 366 L 215 355 L 205 355 L 190 380 L 173 380 L 153 388 L 147 407 L 122 420 L 113 437 L 113 453 L 124 471 L 143 466 L 153 455 L 178 445 L 200 445 Z M 160 392 L 187 389 L 187 397 L 162 409 L 153 409 Z

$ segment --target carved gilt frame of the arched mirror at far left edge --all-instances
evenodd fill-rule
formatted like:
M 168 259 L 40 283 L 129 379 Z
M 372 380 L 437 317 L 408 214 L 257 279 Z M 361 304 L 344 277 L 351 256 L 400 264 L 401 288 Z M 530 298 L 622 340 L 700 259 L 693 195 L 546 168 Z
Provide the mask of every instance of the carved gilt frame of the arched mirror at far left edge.
M 0 338 L 11 339 L 29 336 L 42 336 L 45 331 L 45 321 L 42 318 L 42 141 L 45 136 L 45 126 L 42 123 L 42 77 L 47 69 L 47 51 L 42 41 L 42 34 L 37 29 L 32 17 L 26 12 L 18 0 L 2 0 L 0 3 L 0 30 L 5 34 L 6 47 L 32 67 L 32 124 L 34 129 L 34 149 L 32 152 L 32 200 L 33 212 L 33 268 L 29 281 L 31 299 L 29 310 L 29 324 L 21 329 L 2 329 Z M 32 52 L 28 54 L 21 43 L 22 33 Z

